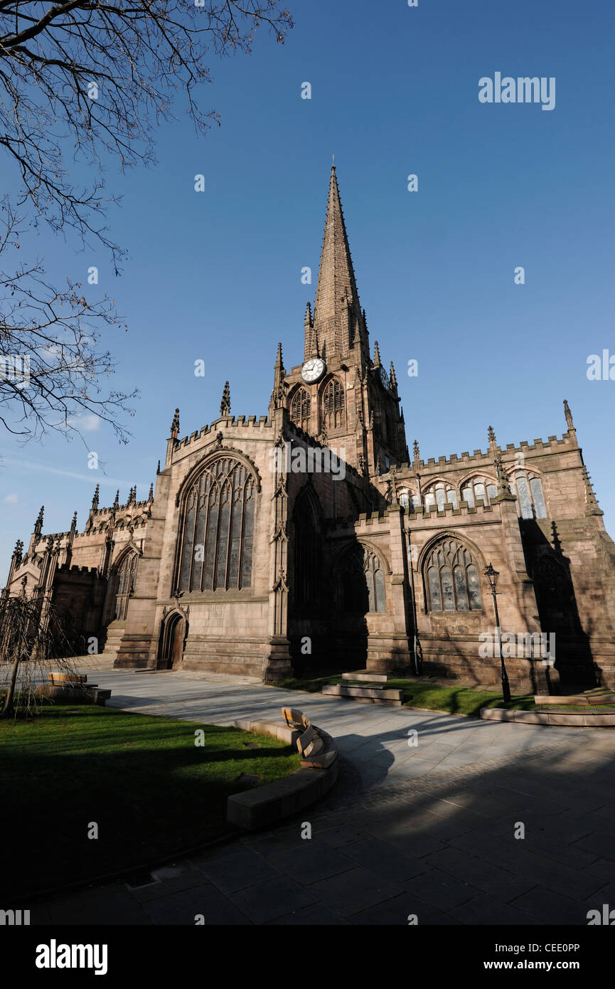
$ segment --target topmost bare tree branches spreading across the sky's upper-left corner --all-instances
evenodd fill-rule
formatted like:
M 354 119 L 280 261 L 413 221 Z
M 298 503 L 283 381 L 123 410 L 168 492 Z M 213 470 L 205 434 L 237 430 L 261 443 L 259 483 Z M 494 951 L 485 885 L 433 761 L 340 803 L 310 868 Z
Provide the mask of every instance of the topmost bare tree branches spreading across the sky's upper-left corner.
M 198 99 L 207 60 L 249 52 L 259 25 L 283 43 L 293 22 L 278 0 L 0 0 L 0 146 L 22 183 L 19 205 L 30 201 L 54 230 L 97 237 L 117 265 L 124 252 L 101 223 L 115 200 L 103 160 L 153 162 L 153 127 L 172 118 L 178 92 L 198 133 L 219 124 Z M 68 146 L 89 166 L 89 188 L 73 184 Z

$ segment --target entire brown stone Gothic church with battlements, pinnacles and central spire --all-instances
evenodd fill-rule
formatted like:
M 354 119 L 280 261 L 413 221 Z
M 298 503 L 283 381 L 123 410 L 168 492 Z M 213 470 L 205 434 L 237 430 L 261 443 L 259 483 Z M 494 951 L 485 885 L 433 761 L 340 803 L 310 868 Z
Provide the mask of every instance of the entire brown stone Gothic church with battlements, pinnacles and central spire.
M 97 488 L 83 531 L 75 514 L 51 534 L 42 509 L 4 593 L 42 621 L 52 604 L 117 667 L 496 684 L 491 565 L 513 690 L 615 687 L 615 544 L 568 403 L 562 436 L 499 446 L 485 424 L 484 450 L 409 455 L 334 167 L 298 343 L 288 369 L 278 344 L 268 415 L 231 415 L 228 383 L 210 425 L 182 436 L 175 410 L 146 500 L 102 507 Z

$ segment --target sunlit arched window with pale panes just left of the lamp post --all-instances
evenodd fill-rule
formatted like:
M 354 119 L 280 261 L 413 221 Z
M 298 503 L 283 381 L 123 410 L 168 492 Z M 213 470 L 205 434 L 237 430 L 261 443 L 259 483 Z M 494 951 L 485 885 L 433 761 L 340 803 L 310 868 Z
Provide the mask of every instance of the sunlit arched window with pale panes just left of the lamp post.
M 430 611 L 478 611 L 483 607 L 479 571 L 470 551 L 457 539 L 445 539 L 424 567 Z

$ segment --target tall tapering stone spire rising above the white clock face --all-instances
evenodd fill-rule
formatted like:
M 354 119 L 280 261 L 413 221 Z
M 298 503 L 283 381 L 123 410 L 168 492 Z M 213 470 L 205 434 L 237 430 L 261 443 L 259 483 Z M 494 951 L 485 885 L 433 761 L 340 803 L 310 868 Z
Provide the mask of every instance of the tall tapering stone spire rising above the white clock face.
M 367 361 L 367 334 L 334 165 L 331 167 L 312 327 L 313 333 L 311 330 L 309 333 L 309 353 L 316 334 L 320 356 L 325 360 L 334 353 L 347 353 L 358 338 Z M 308 339 L 306 347 L 308 348 Z

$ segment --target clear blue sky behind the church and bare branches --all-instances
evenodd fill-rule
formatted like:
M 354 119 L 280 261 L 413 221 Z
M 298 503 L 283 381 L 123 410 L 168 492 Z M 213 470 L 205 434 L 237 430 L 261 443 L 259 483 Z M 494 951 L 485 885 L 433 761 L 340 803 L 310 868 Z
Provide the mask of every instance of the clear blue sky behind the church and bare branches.
M 48 532 L 67 529 L 75 509 L 82 527 L 97 483 L 101 503 L 118 487 L 126 500 L 132 484 L 145 497 L 176 405 L 186 435 L 218 416 L 228 379 L 233 414 L 266 413 L 278 340 L 287 367 L 303 357 L 332 153 L 408 445 L 417 438 L 424 459 L 485 449 L 489 424 L 502 446 L 561 435 L 566 398 L 615 533 L 615 382 L 586 377 L 590 354 L 615 353 L 612 3 L 289 5 L 296 27 L 283 47 L 262 34 L 251 56 L 213 60 L 203 105 L 220 111 L 220 128 L 198 139 L 178 105 L 157 133 L 155 168 L 122 175 L 109 164 L 123 196 L 109 225 L 130 250 L 121 278 L 102 251 L 39 236 L 58 279 L 85 282 L 100 268 L 100 294 L 130 326 L 106 335 L 114 384 L 141 396 L 128 447 L 102 426 L 86 433 L 106 475 L 88 469 L 78 441 L 3 437 L 2 573 L 43 502 Z M 554 76 L 556 108 L 480 103 L 479 79 L 496 71 Z M 407 191 L 410 173 L 418 192 Z M 518 265 L 525 285 L 514 284 Z

